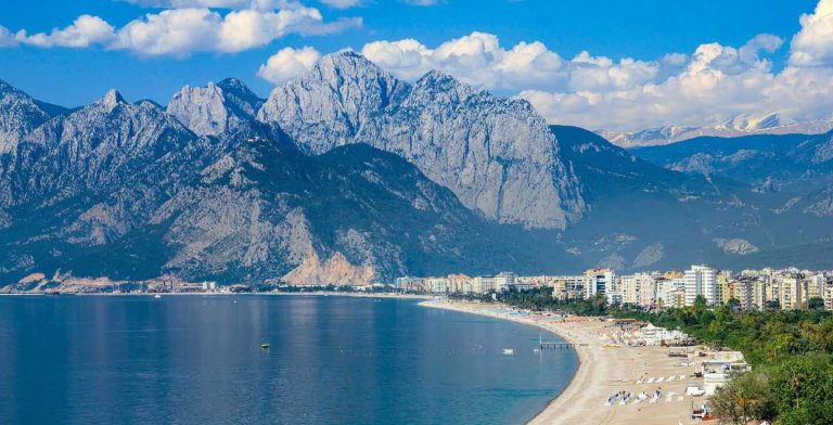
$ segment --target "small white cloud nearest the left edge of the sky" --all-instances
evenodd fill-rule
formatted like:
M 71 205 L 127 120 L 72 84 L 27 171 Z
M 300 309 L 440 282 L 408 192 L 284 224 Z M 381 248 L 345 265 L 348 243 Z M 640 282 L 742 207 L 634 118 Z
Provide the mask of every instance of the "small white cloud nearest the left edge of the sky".
M 65 28 L 54 28 L 49 34 L 38 33 L 31 36 L 27 35 L 25 30 L 21 30 L 15 35 L 15 38 L 24 44 L 41 48 L 86 48 L 91 44 L 112 41 L 115 37 L 114 30 L 113 26 L 101 17 L 81 15 Z

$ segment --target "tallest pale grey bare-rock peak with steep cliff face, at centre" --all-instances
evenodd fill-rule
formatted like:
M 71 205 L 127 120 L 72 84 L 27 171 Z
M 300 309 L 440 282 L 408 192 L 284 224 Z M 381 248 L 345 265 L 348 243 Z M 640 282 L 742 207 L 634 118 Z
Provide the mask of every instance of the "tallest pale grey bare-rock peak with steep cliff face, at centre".
M 275 88 L 258 119 L 306 153 L 368 143 L 400 155 L 502 223 L 564 229 L 586 210 L 558 141 L 526 101 L 438 72 L 410 85 L 357 53 L 331 54 Z

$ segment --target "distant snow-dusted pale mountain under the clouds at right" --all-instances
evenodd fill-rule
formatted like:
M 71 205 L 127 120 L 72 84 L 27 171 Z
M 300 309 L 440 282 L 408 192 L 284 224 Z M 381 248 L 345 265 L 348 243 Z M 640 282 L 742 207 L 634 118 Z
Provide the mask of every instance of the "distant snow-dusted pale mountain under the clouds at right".
M 715 126 L 665 126 L 633 132 L 599 131 L 623 147 L 655 146 L 699 137 L 738 138 L 752 134 L 820 134 L 833 130 L 833 120 L 784 123 L 778 113 L 764 116 L 741 114 Z

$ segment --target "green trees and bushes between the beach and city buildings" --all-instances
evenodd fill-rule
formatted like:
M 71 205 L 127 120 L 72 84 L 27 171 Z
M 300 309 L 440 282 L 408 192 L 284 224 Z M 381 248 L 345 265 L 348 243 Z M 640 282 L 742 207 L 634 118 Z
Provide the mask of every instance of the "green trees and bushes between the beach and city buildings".
M 491 299 L 491 295 L 487 296 Z M 587 300 L 552 299 L 551 288 L 497 295 L 511 306 L 611 314 L 678 329 L 714 347 L 740 350 L 753 372 L 735 377 L 709 399 L 723 423 L 771 421 L 783 425 L 833 423 L 833 313 L 810 299 L 808 310 L 741 311 L 736 300 L 715 307 L 695 305 L 663 311 L 607 307 L 603 296 Z

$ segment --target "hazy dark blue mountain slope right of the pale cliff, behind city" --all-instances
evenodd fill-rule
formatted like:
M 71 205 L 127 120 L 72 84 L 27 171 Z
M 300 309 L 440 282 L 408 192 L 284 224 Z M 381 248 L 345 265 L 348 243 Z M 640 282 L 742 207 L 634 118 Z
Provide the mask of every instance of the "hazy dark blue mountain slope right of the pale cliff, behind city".
M 597 266 L 644 270 L 696 259 L 730 269 L 764 267 L 762 259 L 771 260 L 766 253 L 804 249 L 833 235 L 822 194 L 804 201 L 787 192 L 755 191 L 719 175 L 662 168 L 580 128 L 553 126 L 552 131 L 590 205 L 562 241 L 569 253 Z M 792 208 L 784 208 L 791 202 Z M 819 257 L 808 257 L 807 267 L 809 258 Z

